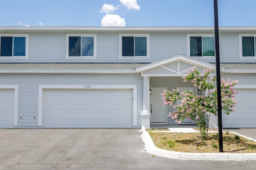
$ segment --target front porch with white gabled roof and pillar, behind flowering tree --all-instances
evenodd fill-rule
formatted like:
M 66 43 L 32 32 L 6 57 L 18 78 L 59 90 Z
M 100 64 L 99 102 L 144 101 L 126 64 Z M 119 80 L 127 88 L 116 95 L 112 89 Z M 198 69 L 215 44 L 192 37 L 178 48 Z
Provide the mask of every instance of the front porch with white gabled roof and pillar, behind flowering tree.
M 171 117 L 167 117 L 169 112 L 172 113 L 174 109 L 172 106 L 164 106 L 161 96 L 163 90 L 171 91 L 172 89 L 191 90 L 195 95 L 198 95 L 197 87 L 194 87 L 191 82 L 183 82 L 181 78 L 192 67 L 196 67 L 201 73 L 204 69 L 210 68 L 212 70 L 210 78 L 215 76 L 215 65 L 184 55 L 175 55 L 136 68 L 136 72 L 141 73 L 143 77 L 143 110 L 141 111 L 141 125 L 143 127 L 184 126 L 184 124 L 196 127 L 188 119 L 184 119 L 182 125 L 177 125 Z M 217 119 L 210 119 L 209 127 L 216 125 Z

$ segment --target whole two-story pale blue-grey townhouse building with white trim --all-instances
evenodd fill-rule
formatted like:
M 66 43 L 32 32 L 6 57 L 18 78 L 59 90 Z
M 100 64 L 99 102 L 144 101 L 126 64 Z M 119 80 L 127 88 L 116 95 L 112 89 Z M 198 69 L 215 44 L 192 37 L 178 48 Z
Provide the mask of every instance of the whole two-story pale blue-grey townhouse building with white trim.
M 255 128 L 256 27 L 219 35 L 221 77 L 239 79 L 223 127 Z M 0 36 L 0 128 L 176 124 L 162 91 L 198 94 L 181 78 L 192 67 L 215 76 L 213 27 L 0 27 Z

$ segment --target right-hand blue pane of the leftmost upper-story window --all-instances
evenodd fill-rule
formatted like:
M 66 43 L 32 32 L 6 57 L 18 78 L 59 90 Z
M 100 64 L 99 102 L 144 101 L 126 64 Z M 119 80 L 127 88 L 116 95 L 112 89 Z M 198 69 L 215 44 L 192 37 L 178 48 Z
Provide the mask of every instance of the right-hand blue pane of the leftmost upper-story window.
M 13 38 L 13 56 L 25 56 L 26 37 Z

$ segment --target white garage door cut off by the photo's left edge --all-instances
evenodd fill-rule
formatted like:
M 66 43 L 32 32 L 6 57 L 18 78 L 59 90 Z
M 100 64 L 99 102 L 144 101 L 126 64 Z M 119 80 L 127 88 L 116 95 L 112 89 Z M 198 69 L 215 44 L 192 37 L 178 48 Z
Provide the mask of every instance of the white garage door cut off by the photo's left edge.
M 0 128 L 14 128 L 14 89 L 0 89 Z

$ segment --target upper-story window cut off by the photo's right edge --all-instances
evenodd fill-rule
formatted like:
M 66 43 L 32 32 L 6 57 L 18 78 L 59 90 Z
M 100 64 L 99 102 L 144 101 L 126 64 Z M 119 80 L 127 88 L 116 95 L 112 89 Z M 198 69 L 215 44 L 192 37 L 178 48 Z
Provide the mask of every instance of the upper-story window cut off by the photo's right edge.
M 256 57 L 256 34 L 240 34 L 240 58 Z

